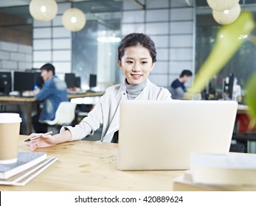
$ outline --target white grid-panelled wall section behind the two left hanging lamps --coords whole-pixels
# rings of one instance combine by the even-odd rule
[[[70,7],[70,3],[58,4],[58,14],[52,21],[33,21],[33,67],[52,63],[60,78],[72,71],[72,32],[61,21]]]

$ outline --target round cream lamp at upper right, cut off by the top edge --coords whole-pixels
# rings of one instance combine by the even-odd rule
[[[207,0],[209,7],[219,12],[229,10],[234,7],[235,4],[238,4],[238,2],[239,0]]]

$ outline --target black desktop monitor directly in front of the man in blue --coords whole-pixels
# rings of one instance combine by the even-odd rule
[[[25,90],[34,90],[35,73],[25,71],[14,71],[13,90],[19,91],[20,95]]]

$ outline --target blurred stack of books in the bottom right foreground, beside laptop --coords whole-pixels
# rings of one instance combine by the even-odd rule
[[[256,154],[193,153],[175,191],[256,191]]]

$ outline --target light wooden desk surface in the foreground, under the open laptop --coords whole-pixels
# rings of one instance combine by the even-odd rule
[[[21,136],[19,150],[26,136]],[[0,185],[0,191],[172,191],[173,178],[184,171],[120,171],[116,143],[72,141],[38,149],[58,157],[56,163],[25,186]]]

